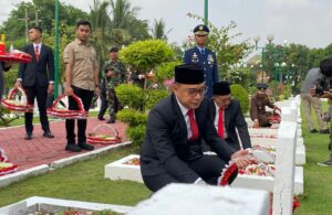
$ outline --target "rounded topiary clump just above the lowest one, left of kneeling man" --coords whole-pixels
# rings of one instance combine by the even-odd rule
[[[125,123],[128,123],[129,127],[146,125],[147,122],[147,114],[129,108],[120,110],[116,114],[116,118]]]

